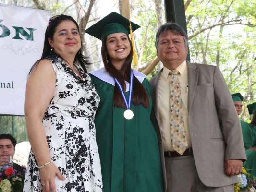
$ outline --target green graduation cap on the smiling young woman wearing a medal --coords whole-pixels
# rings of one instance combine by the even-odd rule
[[[132,30],[140,28],[139,25],[131,22]],[[103,19],[99,20],[96,24],[90,26],[85,30],[85,33],[90,34],[100,40],[113,33],[130,34],[130,21],[117,12],[111,12]]]

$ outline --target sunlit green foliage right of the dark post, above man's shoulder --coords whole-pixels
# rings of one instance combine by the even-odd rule
[[[247,104],[256,98],[255,10],[256,2],[242,0],[193,0],[186,10],[191,61],[218,63],[231,93]]]

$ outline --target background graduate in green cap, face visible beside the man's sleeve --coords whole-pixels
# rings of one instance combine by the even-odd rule
[[[243,110],[244,97],[240,93],[235,93],[231,96],[237,111],[237,115],[240,115]],[[250,108],[250,105],[248,106]],[[251,110],[249,110],[249,113],[250,112]],[[251,177],[253,177],[256,176],[256,134],[253,132],[252,127],[247,122],[243,120],[240,120],[240,122],[243,133],[244,148],[247,157],[247,160],[244,162],[243,166],[247,169],[247,172],[251,174]]]

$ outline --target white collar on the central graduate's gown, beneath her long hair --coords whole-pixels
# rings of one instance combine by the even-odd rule
[[[134,73],[134,76],[139,80],[140,83],[143,82],[143,80],[146,78],[146,75],[143,74],[142,72],[138,72],[134,69],[132,69],[133,73]],[[92,72],[90,72],[92,75],[98,77],[99,79],[101,79],[102,81],[105,81],[109,84],[112,84],[113,86],[115,86],[115,80],[114,78],[106,71],[106,69],[103,67],[103,68],[100,68],[98,70],[94,70]],[[129,82],[126,82],[125,81],[125,84],[126,84],[126,91],[129,91]]]

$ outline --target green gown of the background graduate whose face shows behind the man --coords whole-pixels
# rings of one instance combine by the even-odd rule
[[[256,177],[256,151],[249,149],[249,147],[256,147],[256,132],[253,128],[246,122],[240,120],[243,139],[244,139],[244,148],[247,160],[244,162],[244,167],[252,176]]]

